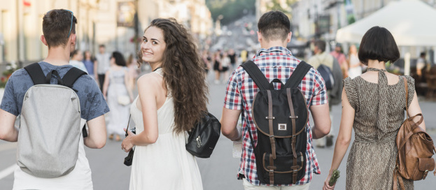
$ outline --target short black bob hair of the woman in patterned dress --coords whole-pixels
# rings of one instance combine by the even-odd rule
[[[388,29],[372,27],[363,35],[358,57],[365,65],[368,65],[369,59],[393,63],[400,58],[400,51]]]

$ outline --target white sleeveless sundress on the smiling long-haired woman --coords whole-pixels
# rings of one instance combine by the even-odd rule
[[[155,73],[162,75],[160,69]],[[130,108],[136,134],[143,131],[142,112],[136,108],[135,98]],[[195,157],[185,149],[185,134],[176,135],[174,103],[167,97],[157,110],[159,137],[153,144],[136,146],[132,162],[129,189],[203,189],[202,177]]]

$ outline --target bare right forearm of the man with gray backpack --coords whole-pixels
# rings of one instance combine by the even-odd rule
[[[101,149],[106,145],[106,122],[104,115],[87,121],[89,128],[87,138],[83,138],[85,145],[90,148]]]

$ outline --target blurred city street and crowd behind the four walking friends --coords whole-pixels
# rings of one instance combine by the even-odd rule
[[[256,32],[263,13],[281,10],[288,15],[292,39],[287,47],[302,60],[314,54],[313,44],[318,39],[327,42],[326,52],[342,47],[340,52],[349,57],[349,47],[358,47],[370,27],[386,27],[398,43],[401,56],[387,69],[415,78],[427,131],[436,139],[436,117],[431,117],[436,108],[436,0],[0,0],[0,102],[10,74],[47,55],[47,47],[40,41],[42,18],[54,8],[73,12],[78,20],[76,49],[92,55],[97,54],[99,45],[126,58],[135,54],[144,29],[157,17],[174,17],[190,29],[210,70],[217,57],[223,59],[223,52],[234,50],[237,62],[227,63],[227,73],[207,75],[208,108],[217,118],[223,108],[226,76],[260,49]],[[143,64],[135,78],[148,72]],[[337,133],[340,105],[335,105],[332,113]],[[122,165],[127,154],[120,150],[120,143],[108,140],[103,149],[86,149],[94,189],[127,189],[130,168]],[[15,152],[16,142],[0,140],[1,190],[12,189]],[[321,189],[332,153],[333,147],[316,148],[322,173],[314,176],[310,189]],[[222,136],[210,159],[197,159],[204,189],[243,189],[236,179],[239,161],[232,156],[232,142]],[[343,161],[337,189],[345,188],[345,167]],[[435,189],[433,177],[416,182],[416,189]]]

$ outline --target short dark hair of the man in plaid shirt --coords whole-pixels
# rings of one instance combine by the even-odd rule
[[[285,41],[290,32],[290,21],[280,11],[269,11],[260,17],[258,29],[266,41]]]

